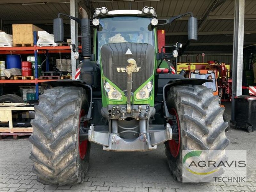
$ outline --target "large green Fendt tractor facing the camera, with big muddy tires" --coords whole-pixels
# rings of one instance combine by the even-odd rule
[[[202,85],[211,80],[188,79],[183,71],[173,74],[166,59],[178,56],[180,43],[172,46],[172,52],[164,53],[163,46],[158,53],[156,28],[183,15],[191,14],[188,39],[197,39],[192,13],[157,20],[151,7],[141,11],[97,8],[91,46],[90,20],[84,9],[80,12],[82,19],[66,15],[81,25],[83,62],[76,80],[49,82],[53,88],[39,96],[31,121],[30,159],[37,180],[59,186],[83,182],[91,142],[106,151],[148,151],[164,143],[178,181],[184,179],[183,149],[218,149],[223,153],[217,160],[224,159],[228,123],[212,89]],[[60,15],[54,20],[56,43],[63,41]]]

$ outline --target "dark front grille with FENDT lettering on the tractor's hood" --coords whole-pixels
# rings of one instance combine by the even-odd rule
[[[125,55],[128,48],[132,55]],[[130,58],[136,60],[137,68],[140,68],[138,72],[132,73],[132,91],[135,91],[153,74],[154,47],[144,43],[113,43],[101,48],[103,74],[121,90],[126,90],[127,72],[124,69]]]

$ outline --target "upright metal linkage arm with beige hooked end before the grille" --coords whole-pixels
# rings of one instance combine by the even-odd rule
[[[131,113],[132,72],[136,72],[137,63],[134,59],[128,59],[127,62],[127,113]]]

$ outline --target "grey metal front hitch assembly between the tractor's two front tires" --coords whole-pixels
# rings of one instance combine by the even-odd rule
[[[109,119],[111,131],[108,131],[108,127],[106,131],[102,126],[91,125],[88,139],[102,145],[103,150],[147,151],[156,149],[157,144],[172,139],[170,124],[166,124],[165,127],[148,124],[148,119],[155,114],[155,108],[149,105],[133,105],[131,113],[127,113],[125,105],[108,106],[102,108],[101,113]],[[130,121],[124,120],[127,118]],[[127,134],[132,134],[134,137],[129,137]]]

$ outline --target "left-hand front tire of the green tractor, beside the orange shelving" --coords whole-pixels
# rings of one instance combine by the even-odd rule
[[[83,182],[88,170],[90,142],[79,142],[80,117],[87,109],[81,87],[55,87],[39,96],[30,159],[37,180],[46,185],[74,185]]]

